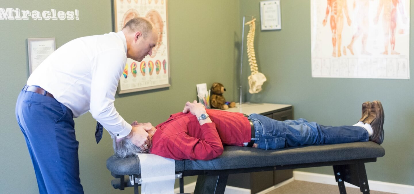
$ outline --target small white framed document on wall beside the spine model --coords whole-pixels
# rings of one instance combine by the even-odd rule
[[[280,0],[260,1],[260,23],[262,30],[282,29]]]

